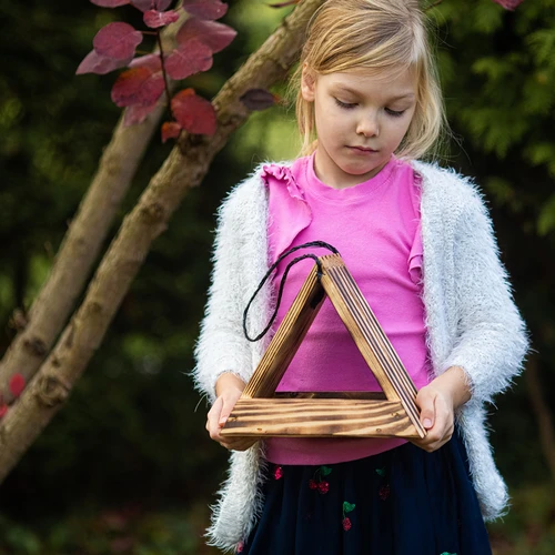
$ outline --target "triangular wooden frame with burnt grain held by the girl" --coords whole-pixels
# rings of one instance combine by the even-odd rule
[[[424,437],[416,387],[343,260],[339,254],[317,260],[221,435]],[[275,393],[326,296],[383,393]]]

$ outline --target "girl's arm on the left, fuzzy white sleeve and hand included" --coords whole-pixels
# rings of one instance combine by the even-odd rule
[[[243,334],[243,311],[252,282],[258,272],[265,271],[266,263],[266,221],[260,192],[255,181],[245,182],[220,210],[212,283],[193,371],[196,389],[212,403],[206,421],[210,436],[238,451],[249,448],[256,440],[223,438],[220,432],[253,370],[253,350]],[[263,294],[260,296],[264,303]]]

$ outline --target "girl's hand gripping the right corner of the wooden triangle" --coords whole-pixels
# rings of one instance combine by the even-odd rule
[[[432,453],[447,443],[455,430],[455,410],[471,398],[463,369],[452,366],[416,395],[420,420],[427,435],[412,443]]]

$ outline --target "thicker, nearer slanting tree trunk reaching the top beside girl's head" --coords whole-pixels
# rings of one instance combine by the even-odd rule
[[[310,17],[323,0],[304,0],[252,54],[214,99],[213,137],[183,135],[124,219],[85,299],[54,350],[0,424],[0,481],[61,408],[73,384],[100,346],[152,242],[168,226],[186,191],[201,183],[213,157],[249,117],[240,101],[250,89],[268,89],[296,59]]]

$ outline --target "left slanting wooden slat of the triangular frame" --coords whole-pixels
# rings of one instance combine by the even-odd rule
[[[243,398],[273,395],[324,299],[325,292],[316,278],[314,265],[246,384]]]

